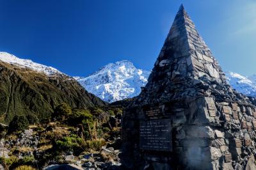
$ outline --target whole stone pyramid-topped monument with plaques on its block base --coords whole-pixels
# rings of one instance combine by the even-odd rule
[[[230,87],[183,6],[123,119],[127,169],[256,169],[256,107]]]

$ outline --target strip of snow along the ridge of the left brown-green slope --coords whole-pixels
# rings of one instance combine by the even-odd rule
[[[54,75],[56,73],[61,73],[59,70],[51,66],[41,65],[31,61],[30,59],[20,59],[16,56],[13,56],[12,54],[9,54],[8,52],[0,52],[0,60],[6,63],[10,63],[12,65],[30,68],[31,70],[35,70],[36,72],[42,72],[46,75]]]

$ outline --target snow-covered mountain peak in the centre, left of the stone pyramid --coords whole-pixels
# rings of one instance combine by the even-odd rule
[[[84,88],[106,102],[139,95],[150,72],[136,68],[130,61],[109,63],[88,77],[74,77]]]

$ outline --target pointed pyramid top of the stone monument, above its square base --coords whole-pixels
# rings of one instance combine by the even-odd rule
[[[228,84],[225,73],[181,4],[148,84],[136,102],[159,103],[209,95],[236,100],[233,93],[236,91]]]

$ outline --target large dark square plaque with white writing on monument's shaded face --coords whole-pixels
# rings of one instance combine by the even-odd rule
[[[140,122],[141,150],[172,151],[171,120]]]

